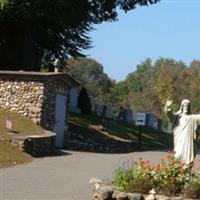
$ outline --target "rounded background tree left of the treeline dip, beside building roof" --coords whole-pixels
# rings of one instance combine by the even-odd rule
[[[115,82],[103,71],[103,66],[90,58],[70,58],[66,63],[68,73],[85,87],[92,104],[113,104],[112,90]]]

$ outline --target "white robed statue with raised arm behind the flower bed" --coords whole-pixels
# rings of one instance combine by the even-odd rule
[[[190,101],[184,99],[180,110],[172,112],[172,100],[167,100],[165,112],[174,125],[174,152],[185,164],[194,162],[196,156],[195,139],[200,125],[200,114],[190,114]]]

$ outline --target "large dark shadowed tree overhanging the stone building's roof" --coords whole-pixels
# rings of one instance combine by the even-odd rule
[[[40,70],[42,63],[91,47],[94,24],[159,0],[1,0],[0,69]]]

